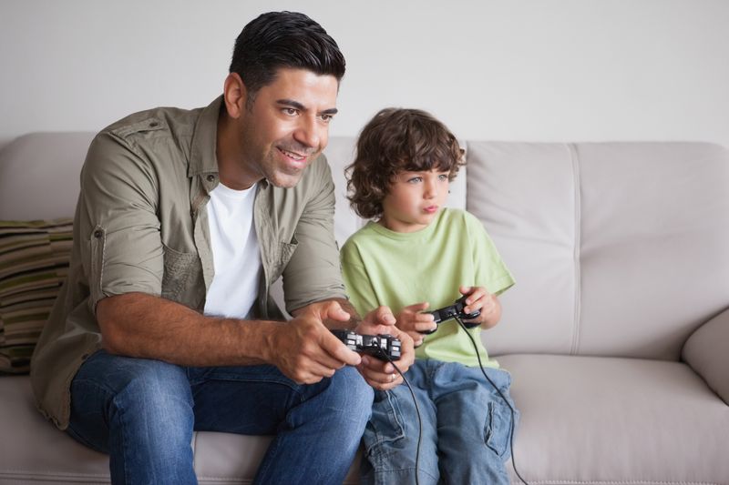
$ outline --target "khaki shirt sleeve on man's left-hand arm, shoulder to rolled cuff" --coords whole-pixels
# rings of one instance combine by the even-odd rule
[[[102,132],[81,173],[77,220],[81,260],[92,312],[101,298],[133,291],[161,292],[158,174],[133,144]]]

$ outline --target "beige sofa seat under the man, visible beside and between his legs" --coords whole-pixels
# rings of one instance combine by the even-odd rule
[[[108,456],[77,443],[43,419],[27,376],[0,378],[0,402],[0,483],[110,483]],[[271,440],[196,432],[192,448],[200,484],[252,483]],[[359,460],[357,455],[344,483],[358,483]]]

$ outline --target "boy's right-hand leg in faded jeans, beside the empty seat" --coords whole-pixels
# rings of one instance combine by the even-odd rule
[[[507,372],[485,369],[508,395]],[[511,409],[479,368],[443,363],[434,375],[440,471],[447,483],[508,485]],[[516,419],[516,416],[515,416]]]

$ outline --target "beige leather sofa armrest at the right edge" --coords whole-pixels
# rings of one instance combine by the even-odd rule
[[[696,328],[682,357],[729,404],[729,309]]]

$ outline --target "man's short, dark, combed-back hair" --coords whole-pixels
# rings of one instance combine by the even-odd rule
[[[318,75],[344,76],[344,55],[323,27],[296,12],[269,12],[243,27],[235,40],[231,73],[241,76],[251,106],[258,90],[271,84],[281,67]]]

